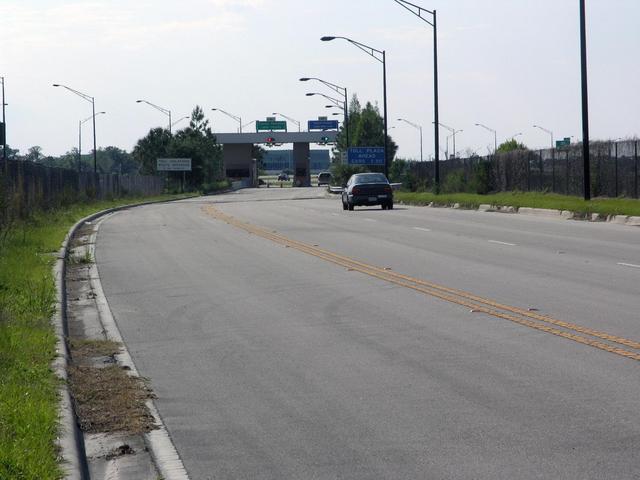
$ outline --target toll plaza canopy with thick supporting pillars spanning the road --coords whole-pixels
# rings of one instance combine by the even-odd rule
[[[257,186],[258,175],[252,147],[256,144],[293,144],[294,185],[311,185],[309,152],[312,143],[334,143],[337,131],[315,132],[252,132],[216,133],[218,144],[222,145],[222,159],[226,176],[249,179]]]

